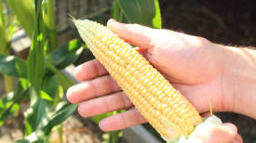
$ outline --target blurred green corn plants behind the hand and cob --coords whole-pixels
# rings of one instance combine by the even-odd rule
[[[20,110],[20,103],[26,99],[30,100],[30,107],[24,112],[24,138],[16,142],[48,142],[54,127],[58,128],[61,137],[60,124],[77,108],[63,99],[63,93],[75,81],[62,70],[73,64],[83,50],[88,51],[87,46],[79,39],[58,45],[54,0],[1,0],[0,4],[0,40],[3,41],[0,45],[0,73],[5,75],[6,82],[6,94],[0,99],[0,125]],[[7,10],[11,12],[10,17]],[[157,0],[146,0],[146,3],[145,0],[115,0],[111,13],[115,20],[161,28]],[[26,60],[10,53],[12,34],[20,28],[32,40]],[[13,86],[14,78],[18,83]],[[91,120],[99,123],[102,118],[116,112],[95,116]],[[110,137],[105,137],[104,142],[117,142],[120,133],[107,133]]]

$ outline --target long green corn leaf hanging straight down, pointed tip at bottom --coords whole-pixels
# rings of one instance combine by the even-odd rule
[[[36,90],[43,84],[45,71],[44,48],[47,45],[44,36],[44,21],[42,18],[42,0],[35,0],[36,20],[34,24],[33,41],[28,57],[28,78]]]

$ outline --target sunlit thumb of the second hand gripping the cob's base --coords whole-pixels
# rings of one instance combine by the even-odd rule
[[[229,143],[237,136],[236,126],[232,123],[205,123],[195,128],[187,143]]]

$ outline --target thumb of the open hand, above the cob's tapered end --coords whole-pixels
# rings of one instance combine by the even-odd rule
[[[141,26],[139,24],[124,24],[119,23],[116,20],[108,20],[108,28],[118,34],[118,36],[124,39],[131,45],[136,45],[142,48],[151,48],[153,40],[156,38],[158,32],[156,29]]]

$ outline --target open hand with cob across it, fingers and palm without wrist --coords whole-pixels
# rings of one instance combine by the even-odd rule
[[[220,45],[214,45],[201,37],[150,29],[136,24],[121,24],[114,20],[108,22],[108,27],[129,44],[141,47],[141,54],[200,113],[209,111],[209,101],[214,111],[233,111],[236,97],[224,95],[228,90],[223,89],[227,84],[223,78],[225,68],[222,64],[226,48],[220,48]],[[71,87],[67,97],[73,103],[80,103],[78,111],[82,116],[129,109],[103,119],[100,123],[102,130],[123,129],[146,122],[98,60],[78,66],[74,76],[83,83]]]

